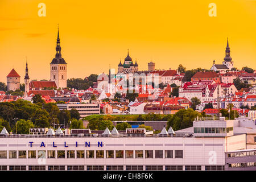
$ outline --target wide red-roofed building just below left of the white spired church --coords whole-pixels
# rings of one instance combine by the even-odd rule
[[[216,83],[221,82],[220,75],[216,72],[196,72],[194,76],[192,76],[191,81],[215,81]]]

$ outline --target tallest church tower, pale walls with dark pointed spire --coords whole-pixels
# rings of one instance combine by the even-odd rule
[[[57,35],[57,46],[56,46],[56,55],[50,63],[51,66],[51,81],[55,81],[57,88],[66,88],[67,87],[67,63],[61,57],[61,47],[60,47],[60,36],[59,36],[59,27]]]

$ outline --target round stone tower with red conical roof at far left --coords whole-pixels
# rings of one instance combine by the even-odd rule
[[[6,76],[7,78],[7,91],[20,89],[20,76],[12,69],[11,72]]]

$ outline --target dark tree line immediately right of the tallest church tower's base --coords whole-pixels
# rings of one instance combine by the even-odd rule
[[[96,82],[98,75],[91,74],[89,77],[82,78],[70,78],[67,80],[67,87],[74,88],[77,90],[86,90],[93,86],[93,82]]]

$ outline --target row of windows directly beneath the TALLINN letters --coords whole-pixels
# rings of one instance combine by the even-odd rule
[[[182,150],[126,150],[125,155],[123,150],[115,150],[115,158],[183,158],[183,151]],[[28,153],[28,157],[27,157]],[[46,156],[47,154],[47,156]],[[155,154],[155,155],[154,155]],[[94,156],[96,158],[104,158],[104,150],[39,150],[38,151],[38,157],[37,158],[48,158],[48,159],[56,159],[56,157],[59,158],[68,158],[68,159],[82,159],[82,158],[88,158],[88,159],[94,159]],[[36,159],[36,151],[35,150],[22,150],[22,151],[9,151],[9,159]],[[105,158],[114,158],[114,150],[106,150],[105,151]],[[7,151],[0,151],[0,159],[7,159]]]

